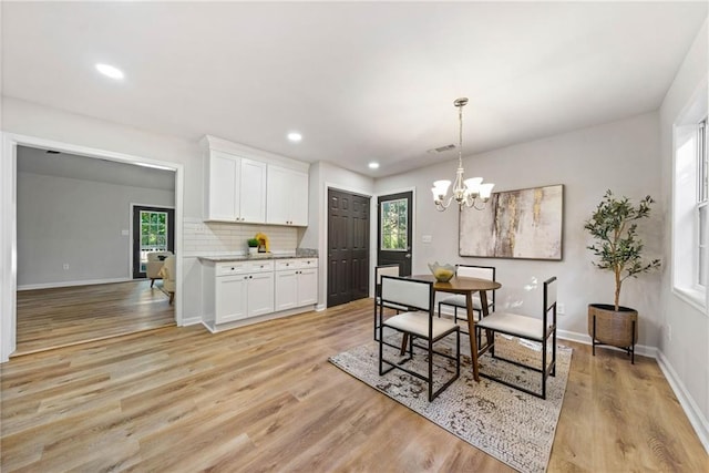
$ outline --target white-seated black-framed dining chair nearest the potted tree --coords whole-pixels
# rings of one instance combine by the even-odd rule
[[[490,313],[487,317],[483,317],[476,323],[475,329],[481,332],[482,330],[486,331],[486,343],[485,346],[480,347],[477,351],[479,360],[484,352],[490,350],[492,358],[536,371],[542,376],[542,389],[541,392],[536,392],[482,371],[480,373],[481,377],[492,379],[511,388],[536,395],[537,398],[546,399],[546,380],[549,376],[556,374],[556,276],[544,281],[542,318],[495,311]],[[541,367],[525,364],[516,360],[501,357],[500,353],[495,352],[496,333],[503,333],[541,343]],[[552,359],[547,362],[549,343],[552,349]]]

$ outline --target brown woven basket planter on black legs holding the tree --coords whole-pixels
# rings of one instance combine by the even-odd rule
[[[635,343],[638,341],[638,311],[629,307],[609,304],[588,305],[588,335],[593,339],[594,356],[597,345],[626,350],[635,362]]]

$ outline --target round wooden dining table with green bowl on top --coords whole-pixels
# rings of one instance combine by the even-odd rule
[[[453,277],[448,282],[439,282],[433,275],[414,275],[411,279],[433,282],[436,292],[452,292],[465,296],[465,307],[467,312],[467,333],[470,338],[470,353],[473,361],[473,379],[480,381],[477,371],[477,338],[475,337],[475,318],[473,316],[473,294],[480,292],[480,305],[482,307],[481,317],[487,316],[487,291],[502,287],[497,281],[479,278]]]

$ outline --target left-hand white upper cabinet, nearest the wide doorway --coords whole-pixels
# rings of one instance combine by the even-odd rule
[[[266,163],[209,151],[205,176],[205,220],[266,222]]]

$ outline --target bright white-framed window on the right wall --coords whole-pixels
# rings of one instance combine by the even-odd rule
[[[700,310],[709,282],[709,162],[707,109],[675,125],[672,288]]]

